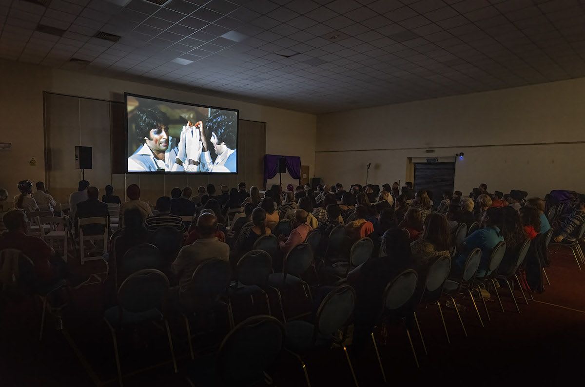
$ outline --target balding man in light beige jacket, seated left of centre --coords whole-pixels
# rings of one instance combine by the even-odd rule
[[[177,259],[171,265],[171,269],[179,279],[181,291],[188,289],[191,277],[201,262],[209,258],[221,258],[229,260],[229,246],[220,242],[215,233],[218,220],[211,213],[204,213],[197,219],[197,231],[201,236],[192,244],[184,246],[179,251]]]

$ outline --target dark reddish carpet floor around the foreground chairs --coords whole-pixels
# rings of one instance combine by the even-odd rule
[[[80,272],[100,272],[99,262],[77,267]],[[413,340],[421,368],[417,369],[404,330],[392,327],[378,337],[388,385],[580,385],[585,380],[585,271],[579,271],[572,255],[555,253],[547,269],[551,284],[529,299],[517,298],[515,312],[509,292],[501,289],[505,313],[497,302],[488,302],[491,322],[482,328],[472,309],[462,314],[468,337],[464,337],[455,311],[443,308],[451,344],[436,306],[419,310],[419,322],[428,355],[420,337]],[[519,296],[519,293],[518,295]],[[0,309],[0,386],[92,386],[116,385],[116,363],[112,337],[102,320],[102,286],[86,285],[75,291],[63,310],[64,330],[56,330],[49,316],[43,341],[39,342],[40,304],[23,299]],[[442,299],[442,301],[445,301]],[[444,304],[444,302],[443,302]],[[466,302],[464,302],[466,304]],[[252,308],[263,310],[259,300],[236,305],[242,320]],[[466,304],[467,305],[467,304]],[[273,310],[276,310],[273,307]],[[482,313],[485,316],[485,313]],[[222,316],[213,331],[205,330],[194,340],[199,356],[212,353],[225,334]],[[119,335],[122,373],[126,386],[188,386],[186,375],[197,360],[189,355],[181,320],[171,321],[178,374],[173,373],[166,333],[157,327]],[[380,367],[373,345],[359,355],[349,348],[360,386],[382,386]],[[148,368],[145,371],[141,369]],[[319,351],[307,359],[313,386],[352,386],[353,379],[342,350]],[[140,372],[139,372],[140,371]],[[277,386],[305,385],[302,369],[285,353],[269,370]],[[579,382],[580,381],[580,382]]]

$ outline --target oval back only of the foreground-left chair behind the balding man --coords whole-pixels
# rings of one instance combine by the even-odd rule
[[[122,282],[118,289],[118,302],[122,310],[132,313],[160,310],[168,291],[168,278],[156,269],[143,269]]]

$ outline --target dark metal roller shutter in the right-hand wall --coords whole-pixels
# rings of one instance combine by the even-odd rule
[[[453,192],[455,185],[455,163],[414,163],[414,189],[431,191],[436,205],[443,192]]]

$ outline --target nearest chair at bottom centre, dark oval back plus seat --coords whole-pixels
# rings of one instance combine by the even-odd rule
[[[271,316],[254,316],[239,323],[223,339],[217,354],[192,362],[193,386],[253,386],[269,376],[267,369],[280,354],[284,327]]]

